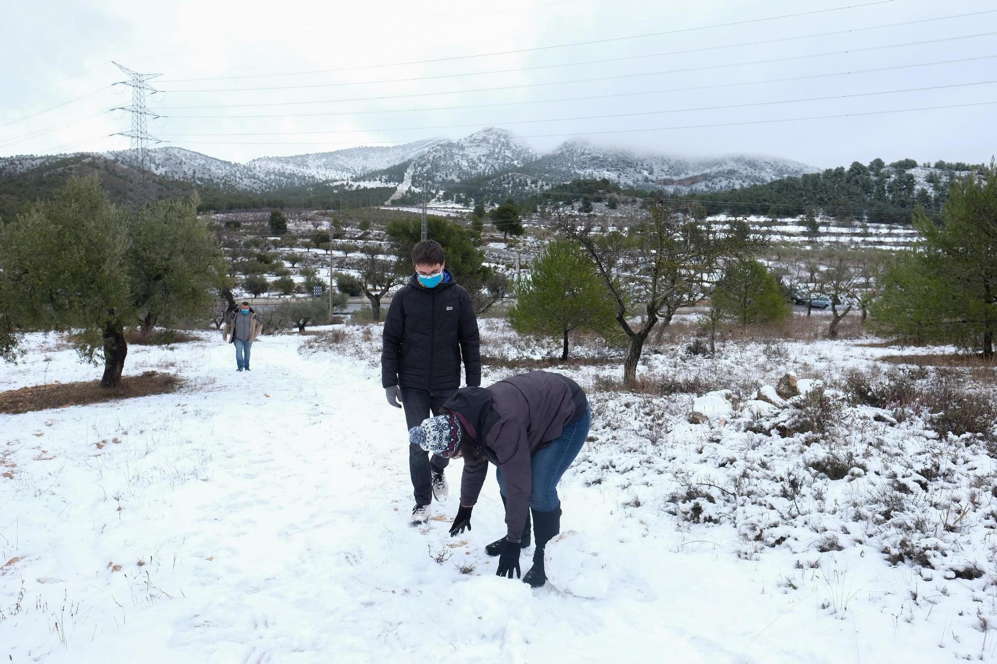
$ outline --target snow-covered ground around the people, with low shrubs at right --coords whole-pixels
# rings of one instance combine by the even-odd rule
[[[845,515],[854,507],[845,501],[861,506],[875,488],[869,483],[884,482],[878,470],[902,469],[926,450],[938,451],[943,478],[955,472],[947,489],[938,486],[953,499],[971,478],[992,478],[993,461],[969,442],[932,439],[916,422],[896,427],[868,410],[849,424],[848,446],[882,450],[883,458],[858,464],[864,478],[810,479],[801,497],[787,498],[780,478],[805,468],[826,443],[807,451],[801,440],[751,433],[733,417],[690,425],[694,394],[598,389],[617,376],[616,364],[565,370],[591,395],[594,419],[560,489],[562,529],[579,534],[553,547],[551,565],[561,582],[603,598],[549,584],[531,590],[497,578],[496,560],[483,551],[504,531],[493,481],[474,529],[449,536],[459,461],[448,471],[452,498],[434,503],[428,525],[409,524],[405,422],[381,389],[380,330],[336,329],[345,339],[325,345],[263,337],[251,373],[234,371],[232,348],[216,333],[133,347],[126,374],[175,372],[186,381],[182,391],[0,415],[0,660],[796,664],[995,656],[993,576],[891,566],[881,537]],[[517,340],[501,321],[483,321],[483,330],[488,355],[540,354],[542,344]],[[0,366],[0,391],[99,375],[57,337],[32,335],[27,348],[25,363]],[[831,381],[845,366],[866,368],[893,352],[848,341],[747,344],[706,360],[666,347],[648,352],[641,371],[699,380],[704,390],[737,389],[788,369]],[[485,384],[509,373],[488,368]],[[673,496],[690,483],[696,495]],[[773,493],[753,495],[759,488]],[[936,563],[944,551],[988,569],[985,512],[974,509],[970,527],[939,535]],[[747,536],[752,528],[757,540]],[[600,562],[581,555],[586,550]],[[571,579],[574,568],[584,574]]]

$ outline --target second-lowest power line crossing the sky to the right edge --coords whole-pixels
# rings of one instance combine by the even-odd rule
[[[578,120],[606,120],[608,118],[636,118],[640,116],[658,116],[669,113],[691,113],[698,111],[723,111],[728,109],[745,109],[759,106],[775,106],[779,104],[801,104],[805,102],[827,102],[837,99],[853,99],[858,97],[876,97],[879,95],[897,95],[901,93],[925,92],[928,90],[947,90],[951,88],[966,88],[969,86],[993,85],[995,81],[976,81],[973,83],[953,83],[944,86],[926,86],[922,88],[906,88],[903,90],[883,90],[879,92],[854,93],[851,95],[829,95],[826,97],[808,97],[802,99],[777,100],[771,102],[749,102],[745,104],[728,104],[724,106],[701,106],[685,109],[668,109],[664,111],[641,111],[635,113],[611,113],[599,116],[575,116],[572,118],[544,118],[540,120],[512,120],[504,122],[479,122],[464,125],[437,125],[430,127],[392,127],[378,129],[358,129],[358,130],[328,130],[319,132],[217,132],[209,134],[161,134],[160,136],[171,137],[202,137],[202,136],[296,136],[296,135],[320,135],[320,134],[363,134],[366,132],[423,132],[442,129],[464,129],[468,127],[481,126],[504,126],[504,125],[534,125],[537,123],[557,123],[573,122]]]

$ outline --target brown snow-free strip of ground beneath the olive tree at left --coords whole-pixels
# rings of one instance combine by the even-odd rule
[[[125,376],[121,385],[105,390],[100,381],[53,383],[0,392],[0,413],[18,414],[49,408],[85,406],[119,399],[148,397],[176,392],[183,382],[173,374],[147,371],[140,376]]]

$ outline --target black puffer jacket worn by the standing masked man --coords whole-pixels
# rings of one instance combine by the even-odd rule
[[[391,299],[381,346],[381,384],[420,390],[461,387],[461,358],[467,385],[482,384],[482,356],[475,308],[462,286],[449,280],[436,288],[415,274]]]

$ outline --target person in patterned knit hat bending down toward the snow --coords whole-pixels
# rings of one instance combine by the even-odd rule
[[[463,388],[442,413],[409,432],[421,449],[447,458],[464,458],[461,506],[450,534],[471,528],[471,512],[495,464],[505,505],[505,536],[486,547],[498,555],[499,576],[519,576],[519,552],[529,546],[533,514],[533,566],[522,580],[533,587],[546,582],[543,550],[560,532],[557,483],[588,437],[592,412],[588,398],[567,376],[532,371],[488,388]]]

